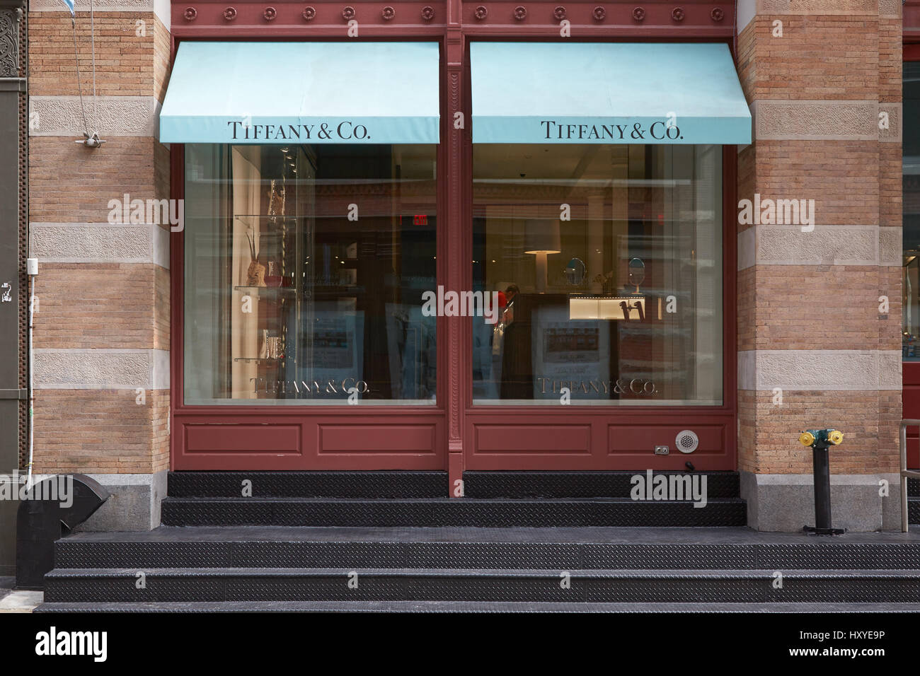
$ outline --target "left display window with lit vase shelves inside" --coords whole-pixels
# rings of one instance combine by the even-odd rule
[[[433,405],[435,157],[186,145],[185,403]]]

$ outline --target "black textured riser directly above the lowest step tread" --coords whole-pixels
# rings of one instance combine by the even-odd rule
[[[920,602],[920,579],[577,579],[562,589],[558,576],[528,578],[147,577],[55,579],[45,602],[226,601],[543,601],[543,602]]]

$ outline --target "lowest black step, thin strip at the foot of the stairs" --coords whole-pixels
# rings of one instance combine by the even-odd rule
[[[35,613],[920,613],[920,603],[76,602],[42,603]]]

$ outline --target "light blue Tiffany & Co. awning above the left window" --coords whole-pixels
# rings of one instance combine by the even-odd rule
[[[436,42],[182,42],[163,143],[438,143]]]

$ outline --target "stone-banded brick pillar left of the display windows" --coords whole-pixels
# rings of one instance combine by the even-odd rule
[[[168,225],[112,224],[109,201],[169,197],[169,153],[154,129],[171,39],[152,4],[96,13],[98,132],[107,143],[89,149],[74,143],[83,117],[61,9],[29,13],[29,223],[40,260],[34,467],[153,474],[168,468]],[[77,11],[92,126],[89,25]]]

